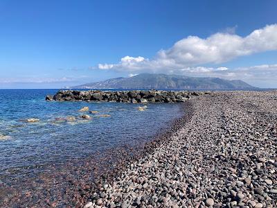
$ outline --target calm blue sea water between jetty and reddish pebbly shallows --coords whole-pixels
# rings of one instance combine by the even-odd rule
[[[48,164],[64,164],[96,151],[148,141],[181,115],[170,103],[141,104],[48,102],[55,89],[0,90],[0,184],[7,177],[44,171]],[[81,107],[98,113],[79,112]],[[82,114],[92,119],[81,119]],[[101,117],[109,114],[109,117]],[[63,121],[75,116],[76,121]],[[37,123],[24,119],[37,118]]]

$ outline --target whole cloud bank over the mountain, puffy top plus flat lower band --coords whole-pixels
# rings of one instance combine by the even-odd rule
[[[178,73],[190,76],[217,76],[243,80],[276,80],[277,64],[251,67],[204,67],[222,64],[254,53],[277,50],[277,24],[267,25],[246,37],[233,32],[215,33],[206,39],[188,36],[170,49],[160,50],[154,58],[125,56],[116,64],[98,64],[98,69],[129,73]],[[253,83],[253,82],[251,82]]]

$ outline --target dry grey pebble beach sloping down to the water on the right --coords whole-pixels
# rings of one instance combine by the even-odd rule
[[[215,92],[84,207],[276,207],[277,92]]]

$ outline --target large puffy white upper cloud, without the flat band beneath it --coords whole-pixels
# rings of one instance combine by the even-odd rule
[[[223,32],[206,39],[188,36],[170,49],[162,49],[152,59],[127,55],[116,64],[98,64],[98,69],[168,73],[201,64],[221,64],[240,56],[276,49],[277,24],[272,24],[255,30],[246,37]]]

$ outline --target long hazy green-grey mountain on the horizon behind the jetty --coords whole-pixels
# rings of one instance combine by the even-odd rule
[[[157,73],[141,73],[129,78],[87,83],[74,89],[254,89],[242,80],[224,80],[210,77],[188,77]]]

